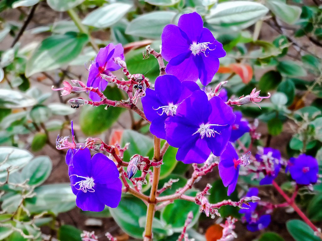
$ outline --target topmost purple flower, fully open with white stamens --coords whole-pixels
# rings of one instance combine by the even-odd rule
[[[211,31],[203,27],[198,13],[181,15],[178,26],[168,24],[163,29],[162,56],[169,63],[166,73],[180,81],[200,79],[208,85],[218,71],[219,59],[226,55],[223,45]]]

